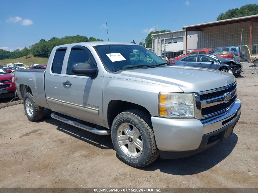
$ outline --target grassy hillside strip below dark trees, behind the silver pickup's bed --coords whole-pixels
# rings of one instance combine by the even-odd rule
[[[26,56],[20,57],[20,58],[15,58],[15,59],[4,59],[4,60],[0,60],[0,65],[5,65],[8,63],[16,63],[16,62],[20,62],[20,63],[24,63],[27,66],[31,65],[31,60],[32,60],[32,64],[46,64],[48,61],[48,58],[37,58],[37,57],[30,57],[28,56],[28,58],[26,58]]]

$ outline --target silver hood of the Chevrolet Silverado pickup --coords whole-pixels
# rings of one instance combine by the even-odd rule
[[[124,70],[120,75],[140,78],[145,82],[171,84],[184,92],[200,92],[234,83],[235,77],[218,70],[186,66],[168,66],[145,69]],[[128,78],[129,79],[129,78]]]

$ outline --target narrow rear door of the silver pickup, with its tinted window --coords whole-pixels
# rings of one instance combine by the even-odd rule
[[[57,48],[50,69],[45,73],[45,95],[51,110],[64,113],[62,105],[62,67],[67,47]],[[51,57],[50,57],[51,58]]]

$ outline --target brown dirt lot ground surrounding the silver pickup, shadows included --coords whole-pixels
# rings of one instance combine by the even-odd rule
[[[237,78],[242,115],[231,137],[183,159],[135,169],[110,136],[49,117],[28,121],[23,105],[0,109],[0,187],[258,187],[258,75]]]

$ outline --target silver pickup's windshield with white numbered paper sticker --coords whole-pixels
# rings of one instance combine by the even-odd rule
[[[122,68],[133,69],[132,66],[164,64],[164,60],[141,45],[98,45],[95,48],[109,72]]]

